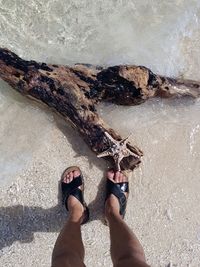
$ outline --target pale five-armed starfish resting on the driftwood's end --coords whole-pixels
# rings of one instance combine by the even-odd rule
[[[120,141],[115,140],[108,132],[105,132],[105,135],[108,139],[110,147],[107,150],[100,153],[99,155],[97,155],[98,158],[108,157],[108,156],[113,157],[118,171],[121,170],[120,162],[122,161],[123,158],[126,158],[130,155],[136,158],[140,158],[140,156],[132,152],[127,147],[128,139],[130,138],[131,135]]]

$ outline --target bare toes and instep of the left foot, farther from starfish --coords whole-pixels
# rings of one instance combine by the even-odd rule
[[[74,170],[69,173],[66,172],[63,176],[63,183],[69,184],[74,179],[80,176],[80,171]],[[80,190],[83,190],[83,186],[78,187]],[[74,196],[70,195],[67,200],[67,207],[70,212],[70,216],[73,217],[73,220],[79,221],[82,220],[83,213],[84,213],[84,207],[81,204],[81,202],[75,198]]]

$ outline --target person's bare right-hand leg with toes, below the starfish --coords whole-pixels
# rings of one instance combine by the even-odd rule
[[[109,171],[107,178],[115,183],[128,181],[121,172]],[[105,216],[110,228],[113,265],[115,267],[148,267],[144,250],[119,214],[119,202],[113,194],[106,200]]]

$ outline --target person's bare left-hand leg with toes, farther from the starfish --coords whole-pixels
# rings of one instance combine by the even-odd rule
[[[63,181],[70,183],[80,172],[70,172]],[[84,247],[81,238],[82,204],[73,196],[68,198],[69,218],[56,241],[52,267],[83,267]]]

